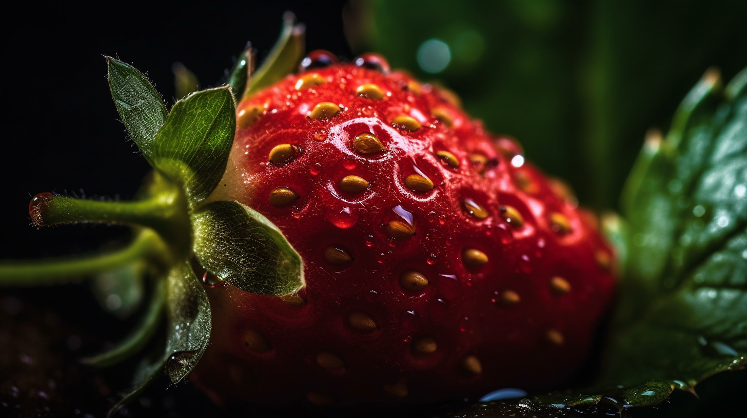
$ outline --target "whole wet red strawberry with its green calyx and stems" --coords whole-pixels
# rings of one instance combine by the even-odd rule
[[[29,211],[37,226],[134,225],[134,240],[0,266],[0,283],[149,278],[142,325],[88,359],[134,354],[166,316],[160,352],[115,409],[164,368],[219,404],[441,402],[569,378],[613,293],[594,216],[453,93],[379,55],[315,51],[283,78],[303,51],[292,16],[283,33],[256,72],[247,49],[229,86],[170,110],[108,57],[153,175],[137,202],[40,193]]]

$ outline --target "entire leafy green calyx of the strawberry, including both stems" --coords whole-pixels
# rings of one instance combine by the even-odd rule
[[[112,309],[114,314],[131,313],[143,294],[149,295],[139,325],[111,351],[85,360],[97,366],[122,361],[146,346],[159,323],[167,322],[164,345],[149,356],[155,361],[137,367],[134,389],[110,414],[164,370],[171,381],[180,381],[199,361],[211,330],[203,283],[208,275],[268,296],[296,293],[305,286],[303,261],[275,225],[239,202],[208,201],[226,172],[236,130],[236,101],[294,71],[302,55],[303,26],[286,13],[281,37],[257,72],[254,52],[247,47],[228,85],[190,93],[170,110],[145,75],[106,57],[114,105],[152,166],[152,175],[131,202],[40,193],[32,199],[29,213],[37,228],[77,222],[120,224],[131,226],[134,238],[117,252],[0,263],[0,286],[90,279],[97,296],[115,295],[123,301],[120,311]],[[193,75],[189,80],[183,75],[187,89]],[[146,282],[149,293],[143,287]]]

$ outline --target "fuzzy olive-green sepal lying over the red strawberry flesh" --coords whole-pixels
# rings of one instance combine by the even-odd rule
[[[251,293],[282,296],[304,285],[303,261],[282,232],[238,202],[211,202],[193,215],[202,266]]]

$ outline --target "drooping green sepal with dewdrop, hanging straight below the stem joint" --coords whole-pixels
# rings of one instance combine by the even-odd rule
[[[165,280],[167,287],[167,337],[164,347],[138,364],[133,388],[117,402],[108,416],[131,402],[164,371],[173,383],[192,371],[208,346],[211,329],[208,295],[186,261],[175,266]]]

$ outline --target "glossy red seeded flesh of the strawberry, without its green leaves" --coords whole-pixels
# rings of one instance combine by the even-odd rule
[[[590,217],[447,91],[373,54],[336,61],[313,52],[238,105],[211,200],[277,225],[306,287],[208,287],[211,344],[190,380],[223,404],[345,405],[567,379],[613,293]]]

